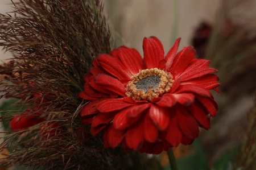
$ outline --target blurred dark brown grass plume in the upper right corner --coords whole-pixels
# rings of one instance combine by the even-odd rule
[[[205,58],[211,60],[212,67],[218,69],[220,90],[229,94],[229,99],[240,97],[241,94],[253,94],[255,90],[254,7],[255,1],[251,0],[222,1],[208,43]]]

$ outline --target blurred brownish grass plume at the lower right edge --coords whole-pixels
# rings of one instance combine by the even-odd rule
[[[242,140],[239,157],[236,161],[237,168],[242,167],[243,170],[256,169],[256,95],[247,121],[245,138]]]

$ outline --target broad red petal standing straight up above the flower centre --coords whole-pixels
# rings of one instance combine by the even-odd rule
[[[164,59],[162,43],[154,36],[143,39],[144,63],[146,68],[157,68],[160,60]]]

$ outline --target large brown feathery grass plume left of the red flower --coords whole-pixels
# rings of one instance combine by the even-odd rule
[[[7,132],[0,150],[8,149],[10,155],[1,158],[0,164],[127,168],[121,167],[126,164],[121,151],[105,150],[101,137],[90,135],[77,109],[85,103],[77,96],[92,59],[110,51],[101,1],[20,0],[13,5],[12,13],[0,15],[0,45],[13,52],[10,63],[0,68],[8,75],[1,81],[1,98],[19,98],[15,115],[38,115],[44,121]],[[9,123],[13,116],[2,111],[1,121]]]

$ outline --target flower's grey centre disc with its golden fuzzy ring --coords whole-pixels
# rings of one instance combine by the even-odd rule
[[[152,101],[153,98],[162,97],[172,87],[172,74],[158,68],[144,69],[131,76],[126,85],[126,96],[137,100]]]

